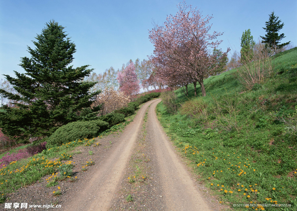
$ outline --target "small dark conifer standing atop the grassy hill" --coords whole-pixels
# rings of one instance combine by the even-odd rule
[[[263,27],[263,29],[266,31],[266,34],[264,37],[260,36],[263,39],[262,43],[266,43],[267,47],[269,46],[269,48],[272,48],[274,53],[277,51],[277,49],[282,48],[290,43],[289,41],[279,44],[280,40],[285,38],[285,34],[278,34],[279,30],[281,30],[284,26],[284,23],[281,23],[281,20],[278,19],[279,17],[275,16],[274,12],[271,12],[271,15],[269,15],[269,20],[265,22],[266,27]]]

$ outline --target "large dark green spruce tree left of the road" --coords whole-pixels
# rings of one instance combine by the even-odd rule
[[[14,71],[16,78],[4,75],[18,94],[0,89],[17,101],[15,108],[4,106],[5,112],[0,112],[0,128],[16,139],[49,136],[69,122],[95,119],[99,110],[90,108],[100,93],[89,92],[96,82],[82,81],[93,69],[87,69],[89,65],[73,68],[75,44],[64,27],[55,21],[45,25],[37,41],[32,41],[35,48],[28,46],[31,58],[21,58],[19,65],[25,73]]]

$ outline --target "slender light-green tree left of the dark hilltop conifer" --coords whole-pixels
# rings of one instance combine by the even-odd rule
[[[249,62],[252,60],[254,56],[253,48],[255,42],[253,40],[253,36],[251,35],[251,30],[245,30],[241,36],[241,62]]]

